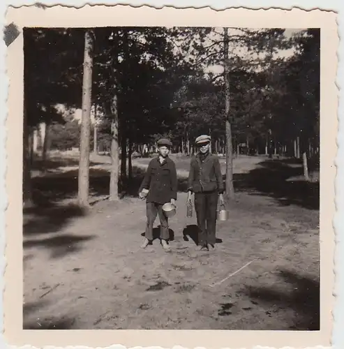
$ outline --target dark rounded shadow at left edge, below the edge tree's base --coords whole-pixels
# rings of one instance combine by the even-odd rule
[[[87,210],[77,205],[47,205],[24,209],[23,234],[37,235],[57,232],[72,218],[87,215]]]

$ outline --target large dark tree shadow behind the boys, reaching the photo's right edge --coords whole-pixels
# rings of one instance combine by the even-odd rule
[[[302,176],[302,171],[300,166],[292,167],[283,161],[262,161],[258,168],[247,174],[234,174],[234,188],[236,191],[248,191],[250,195],[267,195],[283,206],[319,209],[319,182],[290,180],[291,177]]]

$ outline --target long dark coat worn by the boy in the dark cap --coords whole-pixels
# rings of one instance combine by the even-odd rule
[[[151,160],[146,175],[142,181],[139,192],[142,189],[149,190],[147,202],[165,204],[171,199],[177,200],[177,170],[170,158],[166,158],[161,164],[159,158]]]

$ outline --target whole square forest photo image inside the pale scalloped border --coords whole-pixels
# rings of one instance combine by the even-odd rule
[[[324,29],[108,22],[20,34],[20,327],[319,332]]]

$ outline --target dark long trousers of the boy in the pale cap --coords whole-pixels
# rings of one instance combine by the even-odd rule
[[[216,208],[218,193],[195,193],[195,211],[198,225],[198,244],[216,243]]]

